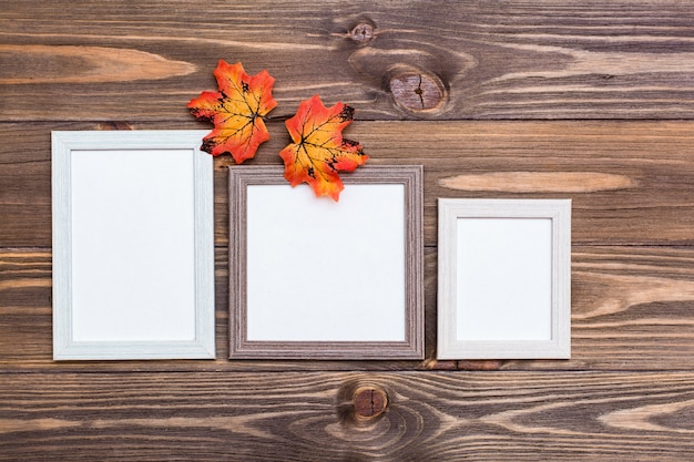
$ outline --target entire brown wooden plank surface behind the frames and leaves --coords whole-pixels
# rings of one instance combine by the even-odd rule
[[[694,460],[693,44],[676,0],[3,2],[0,460]],[[50,132],[210,127],[220,59],[277,80],[254,163],[319,93],[423,165],[423,361],[225,359],[224,158],[218,359],[52,361]],[[571,360],[436,361],[437,197],[573,199]]]

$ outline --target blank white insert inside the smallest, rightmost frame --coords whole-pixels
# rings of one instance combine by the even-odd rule
[[[457,337],[549,340],[552,220],[458,218]]]

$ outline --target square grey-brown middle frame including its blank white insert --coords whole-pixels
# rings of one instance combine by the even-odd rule
[[[421,166],[344,174],[339,202],[283,171],[229,170],[229,357],[421,359]]]

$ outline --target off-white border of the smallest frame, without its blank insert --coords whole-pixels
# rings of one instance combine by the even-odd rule
[[[569,359],[571,356],[571,201],[439,198],[437,359]],[[551,339],[457,338],[459,218],[550,218],[552,222]]]

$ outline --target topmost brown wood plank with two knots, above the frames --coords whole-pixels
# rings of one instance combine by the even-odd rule
[[[687,2],[6,2],[2,121],[185,117],[220,59],[363,119],[691,119]]]

